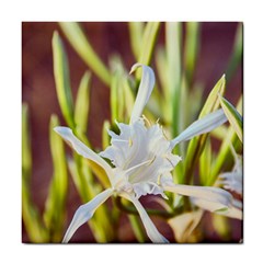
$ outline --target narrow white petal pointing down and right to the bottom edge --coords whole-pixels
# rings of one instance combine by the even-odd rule
[[[148,214],[146,213],[145,208],[139,203],[139,201],[133,195],[129,195],[126,193],[122,193],[122,196],[130,201],[132,203],[134,203],[135,207],[137,208],[140,215],[141,221],[146,228],[146,232],[150,238],[150,240],[153,243],[169,243],[169,241],[157,230],[156,226],[151,221],[150,217],[148,216]]]

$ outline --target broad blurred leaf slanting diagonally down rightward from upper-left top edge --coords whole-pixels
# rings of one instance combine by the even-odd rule
[[[69,43],[75,50],[83,59],[83,61],[90,67],[91,70],[107,85],[111,84],[111,75],[104,62],[94,52],[91,46],[88,36],[84,35],[81,26],[75,22],[60,22],[62,32],[67,36]]]

